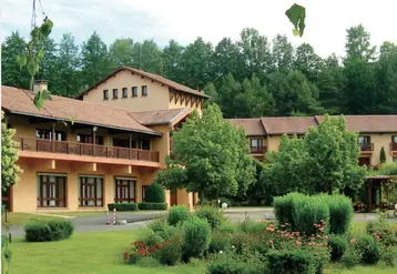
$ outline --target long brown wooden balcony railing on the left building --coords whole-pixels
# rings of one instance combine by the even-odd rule
[[[106,146],[90,143],[75,143],[65,141],[52,141],[35,138],[14,136],[21,151],[52,152],[70,155],[100,156],[113,159],[129,159],[150,162],[160,162],[157,151]]]

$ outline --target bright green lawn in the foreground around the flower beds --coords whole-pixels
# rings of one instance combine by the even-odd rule
[[[365,223],[355,223],[353,233],[365,230]],[[27,243],[14,240],[10,245],[12,260],[11,274],[62,273],[62,274],[204,274],[203,265],[179,265],[174,267],[145,268],[123,264],[122,255],[135,240],[136,231],[75,233],[71,239],[50,243]],[[326,270],[327,274],[394,274],[396,268],[357,267],[342,271]]]

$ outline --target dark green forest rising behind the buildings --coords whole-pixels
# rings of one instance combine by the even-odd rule
[[[27,89],[29,74],[16,55],[27,41],[13,32],[2,43],[3,85]],[[37,79],[49,81],[53,94],[75,97],[83,89],[129,65],[205,90],[224,118],[315,114],[397,113],[397,45],[379,48],[362,26],[347,30],[345,55],[323,59],[308,43],[294,48],[285,35],[269,40],[247,28],[241,38],[216,45],[197,38],[161,48],[153,40],[116,39],[109,47],[99,33],[77,44],[72,33],[48,39]]]

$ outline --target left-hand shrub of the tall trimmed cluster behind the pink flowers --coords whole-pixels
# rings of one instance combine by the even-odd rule
[[[302,199],[307,199],[307,196],[301,193],[289,193],[284,196],[274,197],[274,213],[279,224],[292,224],[294,222],[294,202]]]

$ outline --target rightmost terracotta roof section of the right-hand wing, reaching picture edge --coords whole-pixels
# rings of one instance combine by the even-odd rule
[[[346,128],[358,132],[397,132],[397,115],[344,115]],[[315,116],[318,122],[324,116]]]

